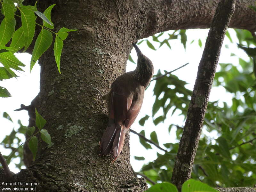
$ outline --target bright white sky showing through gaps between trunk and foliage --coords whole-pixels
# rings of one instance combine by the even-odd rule
[[[155,68],[155,74],[157,73],[158,69],[161,69],[166,71],[172,71],[173,69],[176,69],[185,63],[189,64],[181,68],[175,72],[173,72],[174,75],[178,76],[181,80],[184,80],[188,82],[186,85],[186,88],[193,90],[193,86],[196,79],[196,73],[197,73],[197,67],[199,64],[199,61],[202,56],[203,48],[205,39],[207,37],[209,29],[190,29],[187,30],[187,48],[186,52],[184,51],[183,45],[180,43],[180,40],[171,40],[169,41],[172,50],[169,49],[167,45],[163,45],[160,47],[157,51],[154,51],[150,48],[148,48],[146,42],[143,42],[142,44],[138,45],[140,50],[144,55],[146,55],[154,64]],[[229,29],[229,33],[231,34],[232,40],[234,43],[238,42],[236,38],[235,31],[233,29]],[[168,38],[168,34],[164,34],[163,36],[159,37],[159,40],[163,40],[165,38]],[[192,40],[194,40],[194,43],[190,44]],[[198,45],[198,39],[202,40],[203,48],[200,48]],[[149,40],[155,48],[158,48],[159,43],[153,42],[152,38],[149,37]],[[225,45],[228,45],[229,49],[225,47]],[[65,44],[64,44],[65,46]],[[237,49],[236,44],[231,44],[229,39],[226,37],[222,46],[221,54],[220,54],[220,63],[233,63],[234,65],[238,65],[238,58],[236,56],[230,57],[230,53],[235,53],[239,57],[243,58],[244,60],[248,61],[248,56],[241,50]],[[133,60],[137,61],[137,55],[134,49],[132,49],[131,52]],[[5,87],[8,89],[8,91],[11,93],[11,98],[0,98],[0,142],[4,139],[5,135],[9,135],[12,131],[13,124],[5,119],[1,118],[3,116],[3,112],[7,112],[13,122],[14,122],[14,129],[17,130],[19,128],[19,125],[17,123],[18,119],[21,120],[23,125],[28,125],[28,112],[27,111],[13,111],[17,108],[20,108],[20,104],[29,105],[30,102],[36,97],[37,93],[39,92],[39,77],[40,77],[40,67],[38,64],[34,66],[32,69],[32,72],[29,72],[29,62],[31,56],[27,53],[17,54],[17,57],[20,59],[21,62],[26,64],[26,67],[23,69],[25,72],[17,74],[20,77],[17,77],[17,79],[12,78],[9,80],[0,81],[0,86]],[[131,63],[130,61],[127,62],[127,71],[132,71],[136,67],[135,64]],[[238,66],[238,69],[239,66]],[[57,67],[56,67],[56,70]],[[217,68],[218,71],[218,68]],[[180,126],[184,125],[184,117],[178,116],[179,111],[177,110],[173,116],[171,116],[171,113],[167,115],[167,119],[164,123],[160,123],[157,126],[155,126],[152,122],[152,117],[150,117],[145,125],[142,127],[139,125],[139,120],[144,117],[146,114],[149,116],[152,116],[152,106],[155,101],[155,97],[153,97],[153,88],[155,83],[151,83],[148,87],[147,91],[145,92],[145,98],[142,105],[142,108],[140,110],[140,114],[138,115],[136,121],[132,125],[132,129],[136,132],[140,132],[141,130],[145,130],[146,137],[150,139],[150,133],[152,131],[156,131],[158,136],[159,145],[164,148],[164,143],[169,142],[178,142],[175,141],[175,132],[176,129],[173,128],[171,130],[171,133],[168,133],[168,127],[170,124],[178,124]],[[225,95],[225,96],[224,96]],[[220,97],[221,96],[221,97]],[[224,97],[223,97],[224,96]],[[223,87],[220,88],[212,88],[212,92],[210,95],[210,101],[220,100],[220,101],[226,101],[229,105],[232,104],[231,102],[232,94],[225,92],[225,89]],[[171,112],[171,111],[170,111]],[[162,115],[162,111],[158,111],[155,115],[155,118]],[[205,134],[210,134],[214,137],[216,135],[216,132],[214,133],[207,133],[203,130]],[[25,137],[23,135],[20,135],[21,138],[25,141]],[[159,150],[155,146],[152,145],[153,149],[145,149],[142,145],[139,143],[139,138],[137,135],[130,133],[130,147],[131,147],[131,164],[133,166],[134,171],[139,171],[143,164],[148,163],[149,161],[153,161],[156,159],[156,151],[163,154],[163,151]],[[17,146],[13,146],[17,147]],[[0,146],[0,151],[3,155],[7,155],[10,153],[10,150],[4,149],[2,146]],[[134,156],[144,156],[146,160],[144,161],[137,161],[134,159]],[[15,159],[10,164],[10,169],[12,172],[19,172],[17,168],[15,168],[14,163],[18,163],[19,160]],[[24,167],[25,168],[25,167]]]

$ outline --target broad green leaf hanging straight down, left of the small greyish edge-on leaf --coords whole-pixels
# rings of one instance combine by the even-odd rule
[[[21,15],[21,24],[24,31],[24,38],[25,38],[25,48],[24,51],[28,49],[28,46],[31,44],[34,34],[35,34],[35,27],[36,27],[36,16],[33,6],[22,6],[19,8],[20,15]]]

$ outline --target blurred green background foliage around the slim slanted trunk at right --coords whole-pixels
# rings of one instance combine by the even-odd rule
[[[232,63],[219,64],[220,69],[215,74],[213,86],[223,87],[231,93],[232,105],[218,100],[208,103],[203,128],[207,132],[217,131],[217,136],[213,139],[202,135],[191,175],[191,178],[201,180],[212,187],[252,187],[256,182],[256,49],[253,47],[256,41],[249,31],[235,29],[235,32],[239,40],[238,47],[243,49],[251,59],[247,62],[238,58],[238,66]],[[169,36],[174,38],[175,33],[177,32],[169,33]],[[227,37],[236,46],[236,42],[231,39],[229,33]],[[153,41],[158,42],[158,39],[157,36],[153,36]],[[183,41],[186,42],[184,39],[185,37]],[[160,44],[164,43],[160,42]],[[198,44],[202,47],[203,43],[200,39]],[[158,71],[156,77],[161,75],[162,73]],[[156,80],[154,88],[156,99],[152,107],[152,115],[154,117],[160,112],[160,116],[153,118],[155,125],[164,122],[176,110],[186,117],[192,92],[186,89],[185,85],[186,82],[172,74]],[[143,117],[140,125],[143,126],[148,119],[147,115]],[[182,127],[171,124],[169,132],[172,128],[177,128],[176,137],[179,140]],[[150,139],[158,143],[155,139],[157,135],[151,134]],[[141,140],[141,144],[145,147],[145,143]],[[157,153],[157,158],[144,165],[140,171],[154,182],[170,182],[172,177],[179,144],[163,143],[163,145],[168,152],[163,155]],[[183,190],[185,187],[182,188]]]

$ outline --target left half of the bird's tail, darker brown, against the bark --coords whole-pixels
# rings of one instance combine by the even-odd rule
[[[114,119],[109,119],[108,126],[100,140],[100,156],[111,152],[113,142],[116,136],[116,125]]]

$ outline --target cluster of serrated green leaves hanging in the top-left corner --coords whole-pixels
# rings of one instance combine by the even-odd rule
[[[63,40],[67,38],[68,32],[76,31],[76,29],[61,28],[59,32],[55,33],[50,30],[54,28],[51,21],[51,11],[55,4],[49,6],[44,11],[44,13],[41,13],[37,11],[36,4],[34,6],[25,6],[22,4],[22,2],[22,0],[0,1],[1,13],[4,15],[4,19],[0,24],[0,63],[4,66],[0,69],[0,80],[17,77],[12,69],[16,71],[22,71],[20,67],[25,66],[13,55],[13,53],[18,52],[22,48],[24,48],[23,50],[26,51],[30,46],[35,35],[35,27],[37,24],[36,15],[43,20],[43,25],[40,25],[42,30],[36,38],[36,43],[32,52],[30,71],[32,70],[36,61],[52,44],[52,33],[54,33],[56,38],[53,50],[57,68],[60,72],[60,55],[63,48]],[[16,14],[18,10],[20,12],[20,16]],[[21,18],[21,27],[16,31],[16,20],[14,15]],[[10,39],[10,47],[5,46],[10,41]],[[8,92],[6,91],[5,93]],[[6,96],[8,96],[8,94],[0,94],[0,97]]]

